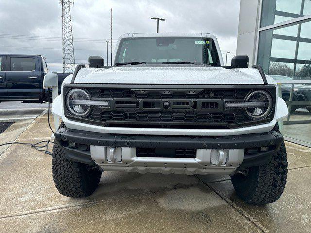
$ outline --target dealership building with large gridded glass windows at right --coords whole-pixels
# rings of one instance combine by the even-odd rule
[[[311,0],[241,0],[237,55],[281,86],[285,138],[311,147]]]

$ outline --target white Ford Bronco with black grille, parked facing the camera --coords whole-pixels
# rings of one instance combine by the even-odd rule
[[[208,33],[122,35],[114,66],[90,57],[62,84],[52,113],[53,178],[68,197],[91,195],[103,171],[230,175],[242,200],[279,199],[288,114],[274,79],[247,56],[224,66]]]

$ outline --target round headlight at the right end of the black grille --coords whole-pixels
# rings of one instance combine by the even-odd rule
[[[250,105],[246,108],[246,113],[253,119],[266,117],[272,109],[272,98],[266,91],[251,92],[246,98],[246,103],[254,103],[254,107]]]

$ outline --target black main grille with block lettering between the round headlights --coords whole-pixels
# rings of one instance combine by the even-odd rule
[[[152,89],[145,88],[146,85],[132,85],[133,88],[98,86],[82,88],[90,93],[92,100],[108,100],[108,108],[93,106],[87,116],[66,116],[102,126],[178,129],[233,129],[262,124],[273,118],[273,114],[270,114],[256,121],[247,116],[244,108],[225,107],[226,102],[245,101],[248,93],[261,89],[262,85],[247,88],[239,85],[224,88],[218,85],[208,89],[200,88],[200,85],[193,89],[188,86],[184,89],[183,86],[178,86],[178,89],[157,89],[160,85],[152,86]],[[269,89],[272,96],[275,95],[273,86],[264,88]]]

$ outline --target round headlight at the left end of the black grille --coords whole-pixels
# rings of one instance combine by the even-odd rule
[[[91,100],[90,95],[85,90],[70,90],[66,96],[68,110],[75,116],[86,116],[90,111],[90,106],[84,104],[84,100]]]

